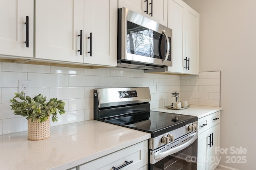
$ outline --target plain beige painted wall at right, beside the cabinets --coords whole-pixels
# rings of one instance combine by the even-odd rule
[[[256,1],[183,1],[200,13],[199,71],[221,71],[220,147],[229,150],[220,155],[220,164],[255,169]],[[230,147],[245,148],[247,153],[232,154]],[[246,156],[245,164],[228,162],[239,156]]]

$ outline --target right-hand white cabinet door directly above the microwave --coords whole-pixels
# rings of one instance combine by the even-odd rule
[[[148,18],[167,27],[168,0],[148,0]]]

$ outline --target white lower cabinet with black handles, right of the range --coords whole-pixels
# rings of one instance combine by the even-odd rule
[[[197,169],[214,170],[220,163],[220,111],[198,119]]]

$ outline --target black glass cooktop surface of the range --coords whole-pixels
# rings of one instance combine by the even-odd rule
[[[154,138],[197,120],[196,116],[145,111],[104,121],[151,133],[151,137]]]

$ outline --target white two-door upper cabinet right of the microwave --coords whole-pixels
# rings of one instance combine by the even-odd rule
[[[168,72],[198,74],[199,14],[182,0],[168,1],[168,27],[172,29],[172,67]]]

